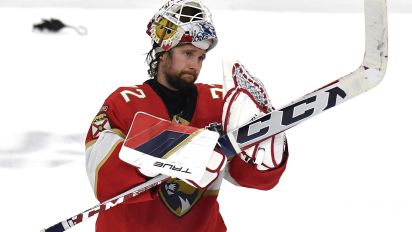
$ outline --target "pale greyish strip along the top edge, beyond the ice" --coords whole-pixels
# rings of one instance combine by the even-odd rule
[[[223,10],[263,10],[263,11],[326,11],[326,12],[353,12],[360,11],[359,0],[209,0],[207,5],[213,9]],[[158,9],[164,1],[141,0],[2,0],[0,6],[4,7],[58,7],[58,8],[92,8],[92,9]],[[408,0],[391,0],[388,4],[394,12],[410,12],[412,3]]]

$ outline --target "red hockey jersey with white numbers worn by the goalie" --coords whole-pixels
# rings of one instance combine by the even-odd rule
[[[189,125],[204,128],[220,123],[220,85],[196,84],[197,101]],[[121,87],[104,102],[86,138],[86,167],[99,201],[105,201],[147,180],[135,167],[119,159],[119,150],[136,112],[143,111],[169,120],[167,108],[148,84]],[[283,151],[282,151],[283,152]],[[258,171],[238,156],[206,189],[197,189],[171,179],[110,210],[101,212],[96,231],[226,231],[217,196],[224,175],[237,185],[271,189],[279,181],[286,162],[269,171]]]

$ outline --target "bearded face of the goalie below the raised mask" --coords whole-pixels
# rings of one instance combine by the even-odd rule
[[[206,51],[183,44],[165,53],[159,64],[157,81],[172,90],[185,90],[193,86],[202,68]]]

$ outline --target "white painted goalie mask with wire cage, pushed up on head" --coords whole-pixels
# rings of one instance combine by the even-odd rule
[[[179,43],[191,43],[209,51],[217,44],[217,36],[209,9],[200,0],[170,0],[153,16],[146,33],[166,52]]]

